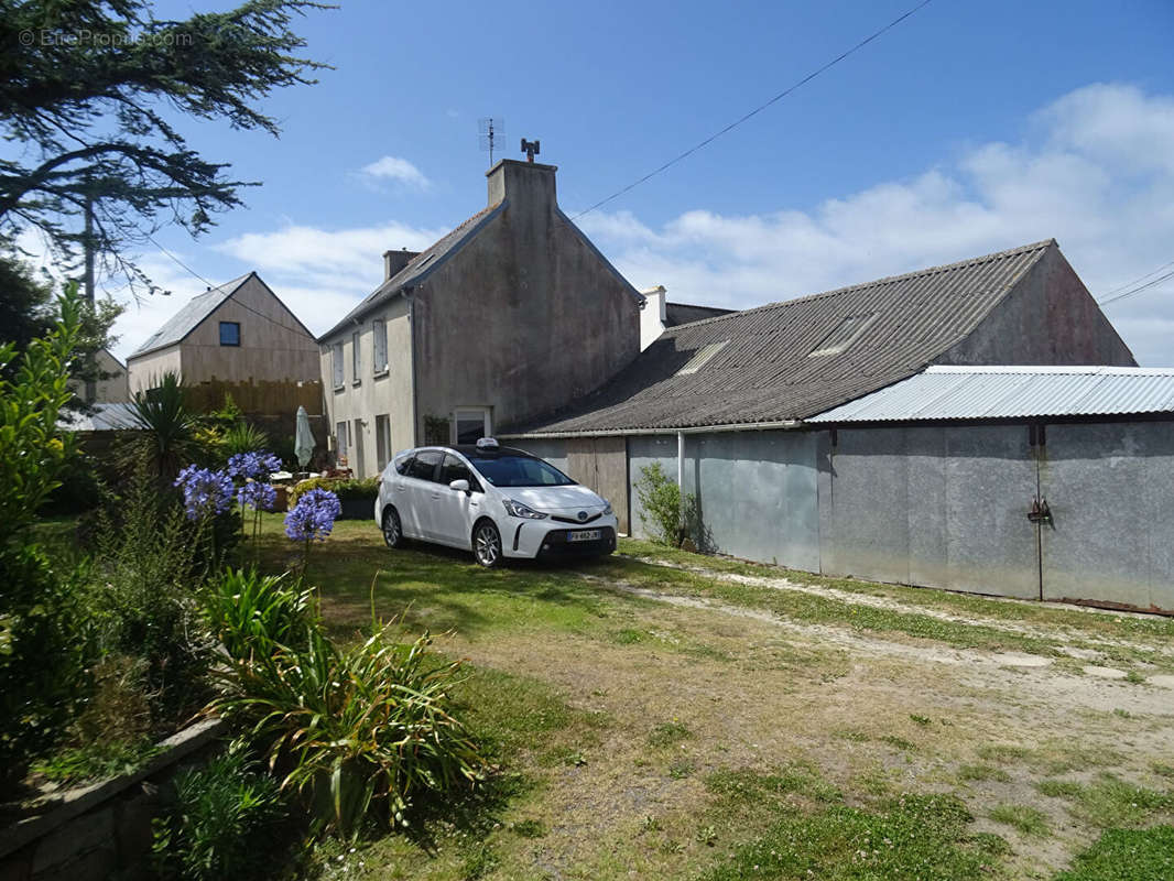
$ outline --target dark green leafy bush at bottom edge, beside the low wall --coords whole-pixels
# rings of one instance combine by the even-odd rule
[[[212,759],[175,778],[175,802],[155,820],[162,879],[247,881],[272,877],[275,827],[285,818],[277,782],[243,753]]]

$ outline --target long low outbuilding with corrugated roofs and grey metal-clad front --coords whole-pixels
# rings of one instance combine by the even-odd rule
[[[672,328],[499,437],[636,534],[660,463],[708,550],[1174,611],[1172,426],[1174,370],[1136,368],[1046,241]]]

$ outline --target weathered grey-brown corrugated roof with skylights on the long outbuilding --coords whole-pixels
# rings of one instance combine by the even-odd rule
[[[501,435],[623,433],[815,416],[923,370],[970,335],[1054,247],[1047,240],[670,328],[576,406],[504,426]],[[848,318],[868,318],[858,321],[863,327],[851,344],[812,356],[835,348],[830,343]],[[677,375],[704,347],[713,347],[711,357]]]

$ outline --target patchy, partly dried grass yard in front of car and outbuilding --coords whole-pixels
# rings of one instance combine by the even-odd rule
[[[620,550],[484,571],[366,522],[313,547],[336,634],[396,618],[467,659],[500,766],[406,834],[319,846],[321,876],[1172,876],[1174,692],[1146,681],[1170,621]],[[296,563],[277,516],[262,559]]]

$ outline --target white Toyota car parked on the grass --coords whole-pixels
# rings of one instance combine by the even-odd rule
[[[486,567],[507,557],[612,553],[618,525],[607,499],[488,437],[397,453],[379,480],[375,519],[387,547],[434,542],[472,551]]]

